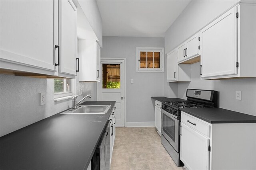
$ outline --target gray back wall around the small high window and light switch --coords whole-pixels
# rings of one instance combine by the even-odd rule
[[[155,120],[150,97],[164,95],[164,73],[136,73],[136,47],[164,47],[164,38],[103,37],[101,57],[126,58],[126,122],[150,122]]]

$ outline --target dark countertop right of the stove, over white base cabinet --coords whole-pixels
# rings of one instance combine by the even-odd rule
[[[180,108],[194,117],[208,123],[256,123],[256,116],[222,108]]]

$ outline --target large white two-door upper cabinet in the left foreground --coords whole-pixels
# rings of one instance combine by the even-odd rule
[[[0,8],[1,72],[75,78],[76,8],[71,0],[0,1]]]

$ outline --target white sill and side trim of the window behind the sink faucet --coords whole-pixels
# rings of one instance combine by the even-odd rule
[[[71,92],[61,92],[54,94],[54,102],[72,98],[76,94],[76,79],[71,79]]]

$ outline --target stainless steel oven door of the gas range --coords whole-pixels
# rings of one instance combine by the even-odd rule
[[[162,109],[162,135],[179,152],[179,117]]]

